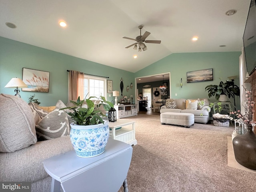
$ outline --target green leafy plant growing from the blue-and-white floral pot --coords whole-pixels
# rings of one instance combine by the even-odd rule
[[[96,98],[96,106],[94,102],[91,100],[92,98]],[[86,101],[87,108],[83,107],[84,101]],[[73,122],[77,125],[95,125],[103,123],[101,116],[105,116],[100,110],[100,106],[103,106],[106,111],[109,111],[110,108],[114,108],[114,104],[107,101],[105,97],[100,96],[99,98],[91,96],[88,99],[80,100],[80,96],[77,101],[70,101],[74,106],[62,108],[60,110],[69,109],[72,112],[66,111],[66,113],[70,116]]]

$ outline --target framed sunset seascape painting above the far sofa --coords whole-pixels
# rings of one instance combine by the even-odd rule
[[[212,80],[213,80],[212,69],[204,69],[204,70],[187,72],[187,83],[212,81]]]

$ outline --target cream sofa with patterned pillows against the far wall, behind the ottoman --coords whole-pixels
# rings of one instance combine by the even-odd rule
[[[190,109],[189,106],[192,106],[193,104],[195,104],[196,100],[198,101],[196,109],[195,108]],[[191,102],[191,104],[189,104],[189,101]],[[169,102],[172,102],[172,105],[169,105],[170,108],[168,108],[168,106],[167,106],[169,104]],[[176,107],[174,106],[174,103],[176,104]],[[210,102],[207,98],[167,99],[166,105],[161,107],[160,113],[164,113],[164,112],[192,113],[192,114],[194,114],[194,118],[195,118],[194,122],[195,123],[207,124],[209,121],[209,118],[210,118],[209,112],[211,110],[209,105],[210,105]]]

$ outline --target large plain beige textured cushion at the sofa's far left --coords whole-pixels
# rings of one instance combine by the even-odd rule
[[[0,108],[0,152],[14,152],[35,144],[35,123],[27,102],[0,94]]]

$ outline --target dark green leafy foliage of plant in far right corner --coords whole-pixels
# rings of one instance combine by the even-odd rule
[[[205,91],[208,91],[209,98],[215,96],[216,100],[220,98],[220,95],[226,95],[228,98],[234,96],[240,96],[240,88],[234,84],[234,81],[226,81],[225,83],[220,81],[219,85],[208,85],[205,87]]]

